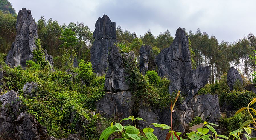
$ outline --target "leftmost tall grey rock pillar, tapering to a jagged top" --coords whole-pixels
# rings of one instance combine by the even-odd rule
[[[31,15],[31,11],[22,8],[17,16],[16,38],[12,44],[6,59],[6,64],[11,67],[26,67],[26,61],[33,59],[33,51],[36,48],[35,39],[38,38],[37,25]]]

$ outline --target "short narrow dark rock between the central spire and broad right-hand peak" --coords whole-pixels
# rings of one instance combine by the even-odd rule
[[[154,70],[154,54],[151,46],[140,47],[140,72],[145,75],[148,70]]]

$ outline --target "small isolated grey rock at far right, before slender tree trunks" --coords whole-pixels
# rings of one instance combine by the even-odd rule
[[[230,87],[230,90],[233,90],[233,86],[237,80],[239,80],[241,84],[243,84],[242,76],[239,74],[236,68],[230,67],[227,72],[227,85]]]

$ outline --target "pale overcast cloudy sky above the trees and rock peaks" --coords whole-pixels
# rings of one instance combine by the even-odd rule
[[[30,9],[37,21],[41,16],[61,25],[84,22],[91,31],[107,14],[116,27],[154,36],[178,27],[196,32],[198,28],[221,40],[234,42],[250,32],[256,35],[256,0],[9,0],[18,13]]]

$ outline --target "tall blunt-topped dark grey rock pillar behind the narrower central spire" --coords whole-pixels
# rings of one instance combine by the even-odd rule
[[[99,18],[93,32],[91,62],[95,73],[103,75],[108,70],[109,48],[116,43],[116,23],[111,22],[107,15]]]

